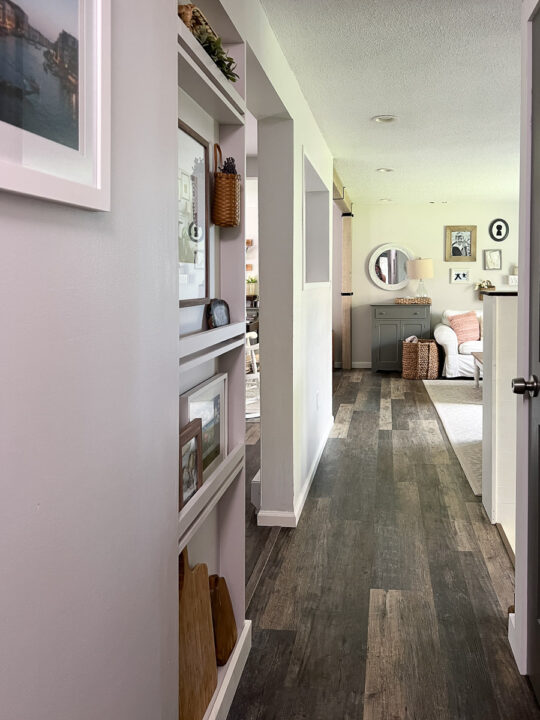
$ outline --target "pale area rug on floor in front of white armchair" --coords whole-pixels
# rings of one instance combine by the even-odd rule
[[[475,495],[482,494],[482,388],[474,380],[424,380]]]

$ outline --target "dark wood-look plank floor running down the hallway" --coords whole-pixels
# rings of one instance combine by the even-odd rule
[[[229,720],[527,720],[513,569],[421,382],[343,373],[298,528],[248,616]]]

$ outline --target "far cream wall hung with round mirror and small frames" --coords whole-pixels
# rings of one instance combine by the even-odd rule
[[[493,204],[448,205],[355,205],[353,220],[353,363],[371,362],[370,303],[392,302],[395,297],[414,295],[416,281],[405,290],[395,293],[381,290],[368,274],[368,261],[372,251],[384,243],[404,245],[419,257],[431,257],[434,275],[426,280],[433,299],[432,324],[439,321],[447,308],[468,310],[482,308],[473,285],[451,285],[450,268],[471,270],[472,281],[489,279],[498,289],[511,289],[505,278],[512,266],[518,264],[518,201]],[[504,242],[489,237],[489,224],[502,217],[510,223],[510,233]],[[446,225],[477,225],[477,260],[475,263],[444,261]],[[502,272],[483,270],[483,250],[502,250]],[[512,288],[514,289],[514,288]]]

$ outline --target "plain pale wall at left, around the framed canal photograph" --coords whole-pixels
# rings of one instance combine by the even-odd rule
[[[112,11],[112,212],[0,193],[6,720],[177,718],[175,5]]]

